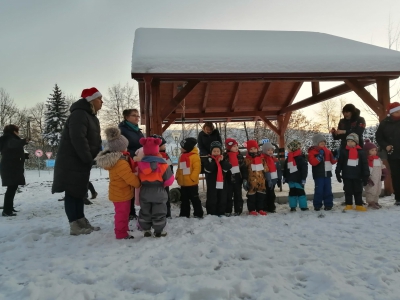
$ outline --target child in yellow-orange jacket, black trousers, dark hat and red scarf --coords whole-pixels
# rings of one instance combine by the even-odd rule
[[[195,218],[203,218],[203,207],[199,197],[199,175],[201,162],[199,149],[195,147],[197,140],[192,137],[180,142],[181,156],[179,157],[176,181],[181,186],[180,217],[190,217],[190,201],[193,205]]]

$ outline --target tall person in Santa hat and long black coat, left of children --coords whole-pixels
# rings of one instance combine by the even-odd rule
[[[101,149],[100,123],[102,95],[96,88],[84,89],[81,99],[70,107],[63,129],[54,167],[52,193],[65,192],[65,212],[70,234],[88,234],[100,230],[85,218],[84,198],[88,190],[90,170]]]

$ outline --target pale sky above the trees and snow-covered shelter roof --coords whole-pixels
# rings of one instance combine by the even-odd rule
[[[387,47],[399,0],[0,0],[0,87],[18,106],[132,82],[138,27],[305,30]]]

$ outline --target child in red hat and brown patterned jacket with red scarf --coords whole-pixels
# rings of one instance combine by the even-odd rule
[[[247,141],[246,148],[247,155],[244,161],[247,172],[243,174],[243,188],[247,192],[249,215],[266,216],[267,213],[264,211],[265,173],[268,172],[268,167],[259,152],[257,141]]]

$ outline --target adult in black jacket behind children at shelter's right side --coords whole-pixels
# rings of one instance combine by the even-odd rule
[[[343,106],[342,113],[344,118],[340,119],[338,129],[332,128],[331,133],[334,140],[340,140],[340,148],[346,148],[346,137],[350,133],[356,133],[360,140],[360,147],[364,146],[363,133],[365,130],[365,120],[360,117],[360,110],[353,104]]]

